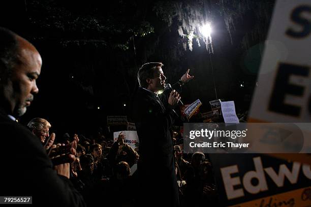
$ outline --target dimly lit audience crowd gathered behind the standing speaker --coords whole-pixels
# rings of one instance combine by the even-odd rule
[[[36,125],[34,120],[45,123],[37,128],[41,133],[35,134],[34,129],[29,127]],[[49,139],[46,135],[49,134],[50,123],[45,119],[35,118],[27,125],[38,140],[41,141],[42,136],[46,137],[42,145],[48,146]],[[120,133],[115,142],[113,137],[105,136],[101,132],[97,133],[95,138],[91,136],[90,139],[82,134],[65,136],[67,140],[58,145],[78,141],[76,159],[70,164],[70,180],[83,196],[87,206],[95,206],[98,203],[105,206],[137,206],[140,203],[138,185],[140,175],[136,170],[140,158],[139,148],[133,149],[129,146],[125,142],[127,138],[125,134]],[[205,206],[206,203],[217,206],[217,190],[212,166],[206,155],[202,152],[183,154],[182,136],[172,131],[172,138],[180,206]],[[153,164],[149,170],[157,171],[157,165]],[[154,180],[149,179],[147,184],[149,188],[153,187]]]

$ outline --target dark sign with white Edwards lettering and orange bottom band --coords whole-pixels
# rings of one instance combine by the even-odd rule
[[[221,206],[311,205],[310,165],[262,154],[210,154]]]

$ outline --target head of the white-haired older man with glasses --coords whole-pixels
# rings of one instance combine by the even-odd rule
[[[34,118],[28,122],[27,127],[40,139],[41,143],[44,145],[46,138],[49,137],[51,124],[46,119]]]

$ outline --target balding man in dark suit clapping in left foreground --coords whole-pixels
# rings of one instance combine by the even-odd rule
[[[69,162],[53,169],[38,137],[15,121],[39,92],[36,80],[41,65],[41,56],[32,44],[0,27],[0,162],[5,166],[0,194],[32,196],[38,206],[84,206],[82,196],[69,180]],[[14,146],[14,153],[9,146]],[[75,160],[75,147],[73,142],[64,155],[68,160]]]

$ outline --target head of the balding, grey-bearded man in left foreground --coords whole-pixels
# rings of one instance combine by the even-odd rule
[[[16,33],[0,27],[0,107],[8,114],[26,112],[39,89],[42,60],[37,49]]]

